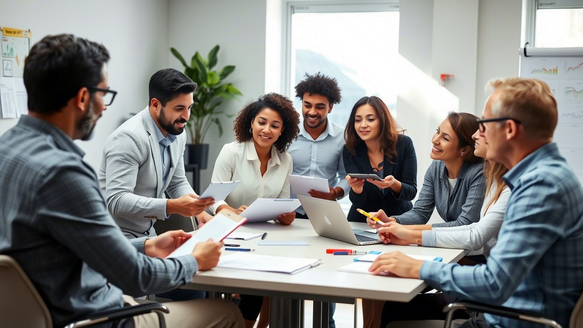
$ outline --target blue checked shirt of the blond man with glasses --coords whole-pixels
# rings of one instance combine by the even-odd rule
[[[464,299],[540,313],[568,327],[583,292],[583,187],[550,143],[504,176],[512,191],[486,264],[426,261],[420,279]],[[489,327],[540,327],[484,315]]]

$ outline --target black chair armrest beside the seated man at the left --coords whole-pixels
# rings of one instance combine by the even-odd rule
[[[65,328],[86,327],[97,323],[120,320],[126,317],[145,315],[146,313],[152,312],[156,312],[158,314],[158,319],[160,320],[160,327],[166,326],[166,324],[164,323],[164,316],[161,315],[161,313],[162,312],[170,313],[170,310],[168,310],[168,308],[166,308],[166,306],[164,306],[161,303],[150,302],[134,306],[124,306],[123,308],[114,310],[93,313],[89,318],[69,323],[68,325],[65,326]]]

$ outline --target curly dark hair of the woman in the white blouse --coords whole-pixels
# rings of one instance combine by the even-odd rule
[[[300,133],[300,114],[294,109],[293,103],[288,97],[272,92],[260,96],[254,102],[248,102],[243,109],[237,114],[234,121],[233,130],[238,142],[247,142],[253,139],[253,133],[250,130],[251,121],[259,111],[269,108],[275,110],[283,119],[282,135],[273,143],[279,152],[287,151],[291,142],[297,139]]]

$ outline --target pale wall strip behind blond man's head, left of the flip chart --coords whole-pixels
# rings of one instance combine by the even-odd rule
[[[482,116],[491,78],[518,76],[521,0],[480,1],[477,39],[476,115]]]

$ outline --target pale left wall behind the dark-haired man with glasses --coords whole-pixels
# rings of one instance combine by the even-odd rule
[[[118,95],[97,123],[93,139],[78,142],[86,162],[99,169],[107,137],[128,113],[146,106],[150,76],[168,64],[167,2],[2,0],[0,7],[0,24],[30,29],[33,43],[47,34],[72,33],[110,51],[109,83]],[[16,123],[16,118],[0,119],[0,135]]]

